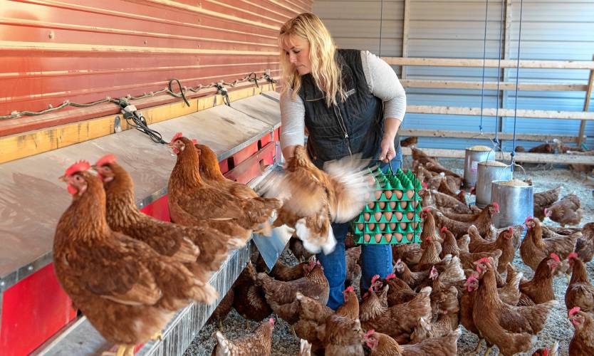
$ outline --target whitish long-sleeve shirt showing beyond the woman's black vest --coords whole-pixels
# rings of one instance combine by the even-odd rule
[[[369,51],[361,51],[363,73],[370,92],[384,102],[384,118],[394,117],[402,121],[406,111],[406,93],[398,76],[389,64]],[[288,88],[281,95],[281,147],[303,145],[305,140],[306,108],[303,100]]]

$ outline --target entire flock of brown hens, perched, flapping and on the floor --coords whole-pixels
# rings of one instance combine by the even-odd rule
[[[594,223],[579,229],[541,222],[580,224],[575,194],[560,200],[560,189],[534,194],[534,217],[497,230],[496,202],[469,206],[459,192],[462,177],[412,147],[424,184],[422,244],[393,245],[394,273],[358,291],[360,246],[347,239],[345,303],[331,310],[328,281],[312,253],[332,251],[330,223],[353,219],[373,194],[367,162],[350,157],[321,171],[298,146],[284,172],[269,174],[256,194],[226,179],[214,152],[196,140],[178,133],[168,147],[177,155],[168,186],[171,223],[137,209],[132,178],[113,155],[94,165],[75,162],[61,177],[72,202],[56,226],[56,274],[73,306],[118,345],[118,356],[162,337],[189,303],[214,303],[219,295],[208,281],[229,252],[252,232],[270,236],[286,226],[298,237],[289,248],[302,262],[278,261],[266,273],[261,256],[252,256],[212,319],[220,325],[235,308],[261,325],[235,340],[215,332],[212,355],[270,355],[272,313],[301,339],[300,355],[456,355],[460,324],[479,336],[477,350],[484,340],[489,350],[514,355],[531,349],[558,303],[558,274],[570,277],[569,355],[594,355],[594,287],[584,264],[594,255]],[[531,281],[512,264],[518,248],[535,271]]]

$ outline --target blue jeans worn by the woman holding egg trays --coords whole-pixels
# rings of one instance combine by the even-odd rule
[[[402,151],[398,150],[396,157],[392,159],[392,169],[396,170],[402,165]],[[385,173],[389,164],[380,165]],[[332,224],[332,231],[336,238],[336,247],[328,255],[318,253],[318,260],[324,268],[324,275],[330,285],[330,297],[328,298],[328,307],[336,309],[343,305],[343,290],[345,289],[346,279],[346,260],[345,260],[345,238],[348,232],[349,223]],[[392,273],[392,247],[390,245],[371,245],[361,246],[361,294],[368,290],[371,278],[376,274],[385,278]]]

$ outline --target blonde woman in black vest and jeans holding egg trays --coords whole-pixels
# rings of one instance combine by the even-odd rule
[[[382,169],[392,160],[400,167],[398,127],[405,115],[406,95],[394,70],[368,51],[336,49],[322,21],[300,14],[287,21],[279,36],[283,93],[281,147],[286,159],[303,145],[308,130],[308,153],[318,168],[332,159],[362,153],[380,159]],[[346,276],[345,237],[348,224],[332,224],[335,251],[318,254],[330,284],[328,306],[343,304]],[[375,274],[392,271],[389,245],[364,245],[361,251],[361,290]]]

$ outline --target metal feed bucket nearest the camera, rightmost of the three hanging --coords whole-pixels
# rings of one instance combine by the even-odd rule
[[[501,184],[503,182],[507,180],[491,184],[491,200],[499,204],[499,214],[493,216],[493,224],[498,229],[523,224],[528,216],[534,214],[534,187]]]

